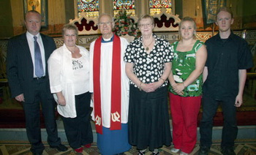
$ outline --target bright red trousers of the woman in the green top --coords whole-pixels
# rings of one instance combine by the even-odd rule
[[[169,96],[174,147],[189,154],[197,142],[197,115],[201,96],[180,97],[172,93],[169,93]]]

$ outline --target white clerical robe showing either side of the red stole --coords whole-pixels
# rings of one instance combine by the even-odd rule
[[[120,37],[121,41],[121,123],[128,122],[129,108],[129,78],[125,73],[124,53],[127,48],[127,39]],[[90,45],[90,92],[94,92],[93,80],[93,59],[94,59],[94,42]],[[100,94],[101,94],[101,110],[102,110],[102,126],[110,128],[110,111],[111,111],[111,78],[112,78],[112,55],[113,42],[102,43],[100,57]],[[91,102],[91,107],[94,104]],[[94,110],[91,113],[94,120]]]

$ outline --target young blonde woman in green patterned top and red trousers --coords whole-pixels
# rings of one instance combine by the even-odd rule
[[[195,39],[196,23],[192,18],[181,20],[181,40],[174,42],[170,76],[170,110],[173,123],[173,153],[189,154],[197,140],[197,114],[200,110],[203,68],[207,52],[203,42]]]

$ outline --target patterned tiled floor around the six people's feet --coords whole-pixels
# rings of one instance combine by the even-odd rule
[[[65,144],[65,143],[64,143]],[[67,145],[67,144],[66,144]],[[160,154],[170,155],[173,154],[170,152],[170,148],[173,146],[163,148],[159,148]],[[27,142],[23,141],[0,141],[0,154],[3,155],[31,155],[29,151],[30,145]],[[194,151],[192,151],[191,155],[196,155],[199,150],[199,146],[196,145]],[[237,155],[255,155],[256,154],[256,139],[252,140],[238,140],[235,145],[235,152]],[[76,154],[72,148],[69,148],[68,151],[59,152],[53,148],[49,148],[47,144],[45,144],[45,151],[43,155],[72,155]],[[99,150],[97,149],[97,144],[94,143],[91,148],[84,148],[82,154],[90,154],[90,155],[98,155]],[[137,150],[135,147],[132,147],[131,150],[125,152],[126,155],[135,155],[137,154]],[[211,147],[210,151],[211,155],[219,155],[220,153],[220,145],[219,141],[215,141]],[[146,152],[146,155],[151,155],[150,151]]]

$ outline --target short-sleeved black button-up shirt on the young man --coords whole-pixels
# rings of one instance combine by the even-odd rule
[[[252,53],[247,42],[231,32],[227,39],[219,34],[206,41],[208,77],[203,85],[203,93],[214,99],[236,97],[239,88],[239,69],[253,67]]]

